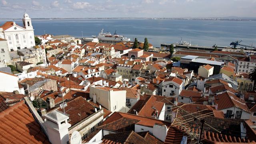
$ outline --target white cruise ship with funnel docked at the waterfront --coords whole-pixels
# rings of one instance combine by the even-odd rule
[[[98,34],[98,36],[92,36],[93,38],[98,38],[103,41],[113,41],[113,42],[129,42],[130,38],[126,38],[124,36],[116,34],[116,32],[112,35],[110,32],[103,33],[103,29]]]

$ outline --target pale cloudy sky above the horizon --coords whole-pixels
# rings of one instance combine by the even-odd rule
[[[256,17],[256,0],[0,0],[0,18]]]

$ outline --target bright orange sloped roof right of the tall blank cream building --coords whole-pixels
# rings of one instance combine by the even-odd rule
[[[130,108],[128,113],[130,114],[136,114],[138,113],[139,116],[159,116],[160,112],[162,111],[162,108],[164,106],[164,102],[158,102],[156,101],[156,98],[154,96],[148,96],[146,100],[139,100]],[[134,112],[136,110],[136,112]],[[156,113],[158,111],[158,114]],[[157,117],[156,117],[157,118]]]

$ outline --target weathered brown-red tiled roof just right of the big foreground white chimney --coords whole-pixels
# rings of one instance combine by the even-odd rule
[[[74,126],[74,124],[95,113],[95,108],[82,98],[82,96],[70,100],[67,104],[68,106],[66,106],[65,109],[66,114],[69,114],[70,121],[68,123],[70,123],[71,126]],[[63,112],[61,108],[58,108],[58,110]]]

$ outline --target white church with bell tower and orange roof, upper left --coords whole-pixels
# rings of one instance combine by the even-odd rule
[[[7,40],[9,52],[35,46],[34,29],[26,12],[22,21],[23,26],[15,22],[6,22],[0,26],[0,38]]]

